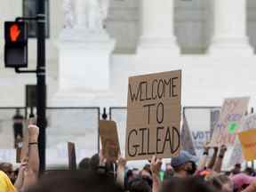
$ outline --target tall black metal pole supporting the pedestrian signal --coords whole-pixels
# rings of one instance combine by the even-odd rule
[[[40,172],[45,170],[45,128],[46,128],[46,89],[45,89],[45,4],[44,0],[37,0],[37,74],[36,74],[36,115],[39,131]]]

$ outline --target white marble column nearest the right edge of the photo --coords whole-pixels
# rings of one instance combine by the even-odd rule
[[[209,53],[252,55],[246,35],[246,0],[214,0],[214,30]]]

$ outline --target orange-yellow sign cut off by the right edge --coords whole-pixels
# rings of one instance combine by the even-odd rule
[[[252,129],[238,134],[242,144],[243,154],[246,161],[256,159],[256,129]]]

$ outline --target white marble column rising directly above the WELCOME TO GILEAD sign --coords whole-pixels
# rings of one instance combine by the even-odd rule
[[[173,0],[141,0],[141,36],[138,52],[167,51],[179,54],[173,29]]]

